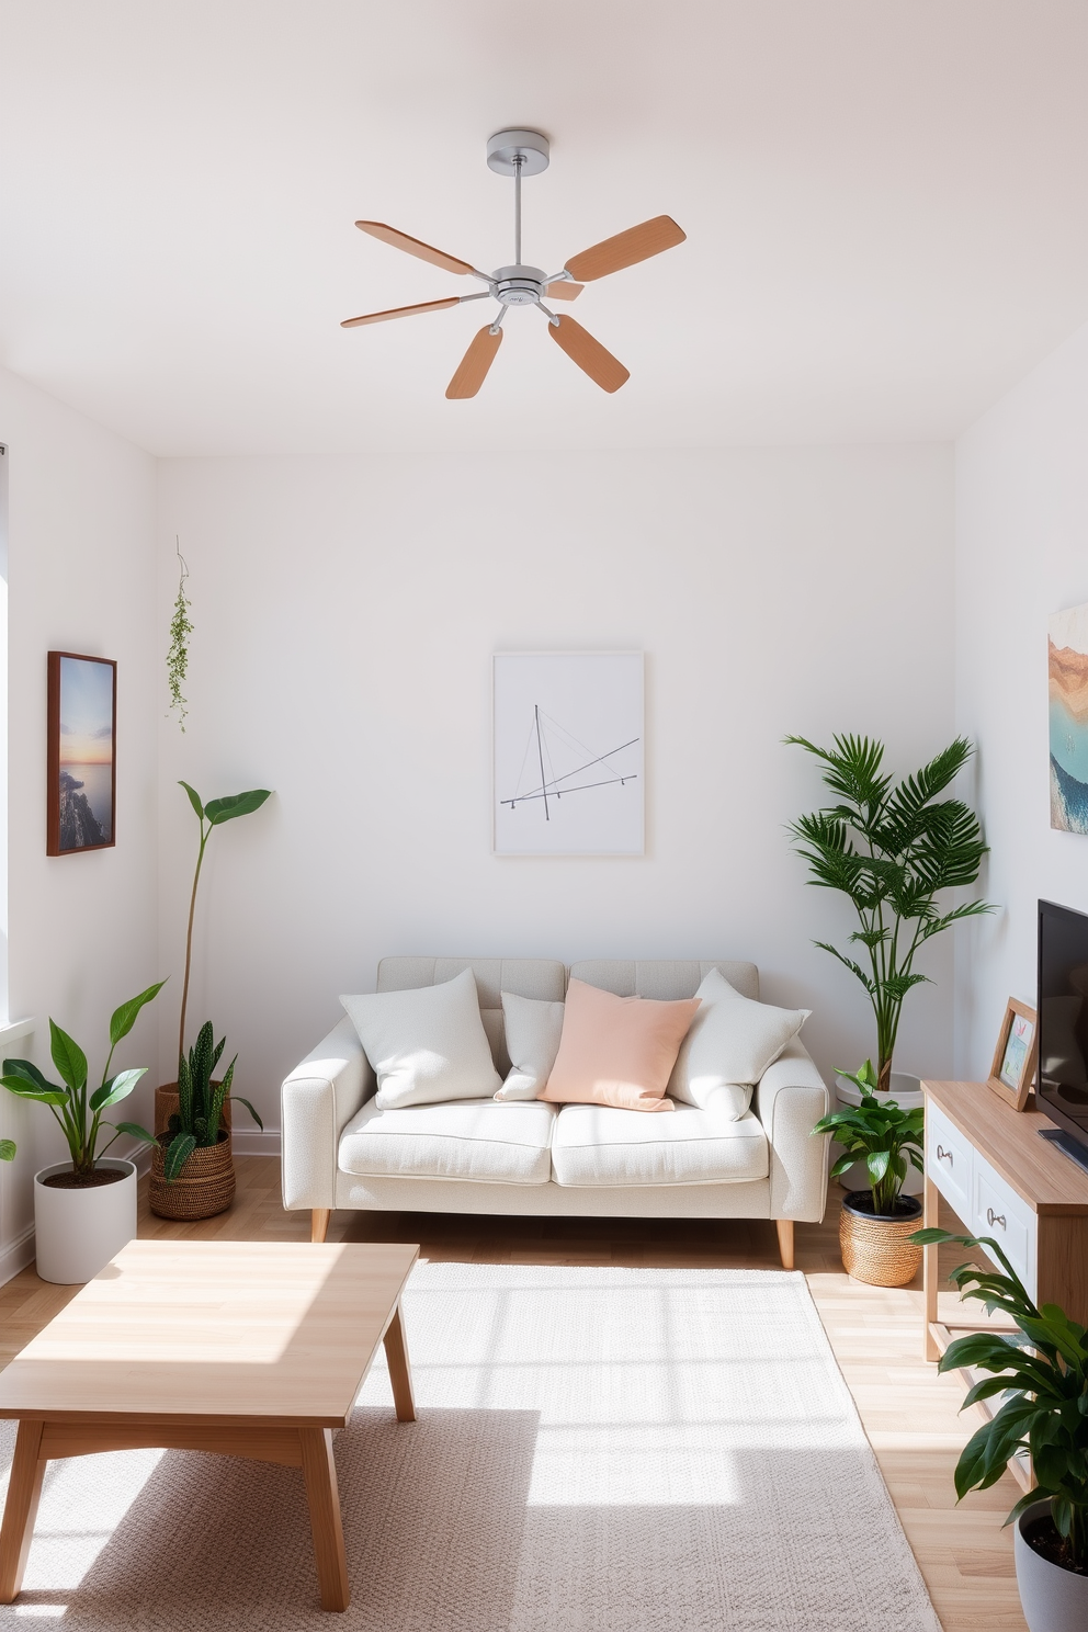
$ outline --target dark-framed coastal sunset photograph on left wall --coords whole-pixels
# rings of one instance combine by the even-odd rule
[[[49,653],[46,855],[114,844],[117,664]]]

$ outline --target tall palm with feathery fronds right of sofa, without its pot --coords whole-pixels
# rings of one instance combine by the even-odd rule
[[[899,1018],[907,992],[928,976],[915,969],[920,948],[959,919],[992,912],[987,901],[940,907],[948,889],[974,885],[988,845],[974,811],[962,800],[938,795],[959,775],[972,754],[959,736],[943,752],[902,782],[882,769],[884,744],[868,736],[835,736],[834,747],[817,747],[788,736],[820,761],[824,787],[834,805],[789,824],[794,849],[809,863],[809,883],[847,896],[858,917],[850,942],[858,958],[816,945],[838,958],[865,986],[876,1020],[876,1092],[887,1093]]]

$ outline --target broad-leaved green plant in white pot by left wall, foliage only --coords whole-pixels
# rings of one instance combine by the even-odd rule
[[[145,992],[114,1009],[109,1020],[109,1056],[103,1080],[95,1090],[88,1092],[86,1054],[67,1031],[60,1030],[55,1020],[49,1022],[49,1041],[60,1082],[49,1082],[29,1059],[5,1059],[3,1062],[0,1085],[18,1098],[38,1100],[52,1111],[67,1141],[77,1180],[90,1182],[95,1164],[122,1133],[142,1144],[155,1144],[155,1136],[147,1128],[140,1128],[139,1123],[111,1123],[103,1113],[126,1100],[140,1077],[147,1074],[147,1066],[137,1066],[134,1071],[119,1071],[111,1077],[109,1067],[117,1043],[129,1035],[144,1004],[150,1004],[165,984],[165,981],[157,981]],[[98,1139],[104,1128],[113,1128],[113,1139],[108,1139],[100,1151]],[[3,1142],[11,1144],[10,1139]],[[15,1146],[11,1146],[11,1155],[15,1155]]]

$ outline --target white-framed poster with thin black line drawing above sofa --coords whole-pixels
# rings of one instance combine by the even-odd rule
[[[641,651],[493,659],[496,855],[643,855]]]

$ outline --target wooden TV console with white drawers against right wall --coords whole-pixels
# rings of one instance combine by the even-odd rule
[[[966,1235],[1000,1240],[1037,1304],[1060,1304],[1088,1325],[1088,1173],[1039,1138],[1041,1128],[1054,1128],[1050,1118],[1015,1111],[985,1082],[923,1082],[922,1089],[927,1227],[938,1222],[940,1193]],[[948,1325],[938,1322],[936,1255],[936,1247],[925,1247],[927,1359],[940,1359],[951,1342]]]

